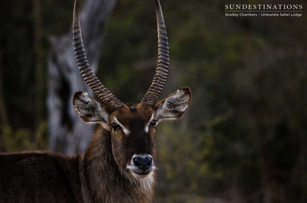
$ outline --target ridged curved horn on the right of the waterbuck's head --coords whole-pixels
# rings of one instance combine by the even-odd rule
[[[159,0],[156,0],[157,26],[158,26],[158,64],[153,82],[141,103],[154,107],[167,78],[169,69],[169,47],[163,14]]]

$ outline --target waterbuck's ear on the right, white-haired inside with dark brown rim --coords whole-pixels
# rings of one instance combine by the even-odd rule
[[[154,110],[158,122],[164,119],[177,119],[188,109],[192,93],[190,88],[181,87],[173,94],[155,105]]]

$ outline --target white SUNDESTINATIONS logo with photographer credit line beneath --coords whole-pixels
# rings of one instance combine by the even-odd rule
[[[225,16],[302,16],[303,5],[298,4],[226,4]]]

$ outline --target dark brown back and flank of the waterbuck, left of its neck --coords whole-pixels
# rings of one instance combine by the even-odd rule
[[[80,202],[80,156],[0,154],[0,202]]]

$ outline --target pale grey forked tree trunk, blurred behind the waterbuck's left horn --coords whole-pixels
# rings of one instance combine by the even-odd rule
[[[94,72],[102,48],[107,17],[116,0],[87,0],[80,8],[80,24],[87,58]],[[82,3],[82,2],[81,2]],[[72,4],[73,11],[73,4]],[[60,22],[59,22],[60,23]],[[68,155],[83,152],[91,140],[93,126],[80,119],[72,105],[76,91],[92,90],[82,78],[74,55],[72,26],[68,34],[50,37],[48,96],[50,149]]]

